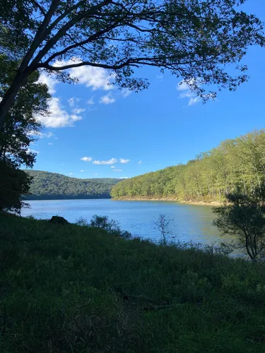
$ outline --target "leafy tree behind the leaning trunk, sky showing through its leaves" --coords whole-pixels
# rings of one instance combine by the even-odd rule
[[[2,55],[0,66],[0,97],[3,97],[13,80],[13,70],[16,70],[18,62]],[[34,136],[40,133],[41,124],[36,116],[48,114],[47,102],[50,98],[47,85],[38,82],[39,76],[35,71],[22,85],[0,131],[0,160],[8,160],[14,167],[21,164],[33,167],[35,162],[35,153],[30,152],[28,147],[35,140]]]

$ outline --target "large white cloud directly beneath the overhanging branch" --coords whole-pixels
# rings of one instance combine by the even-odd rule
[[[68,60],[58,61],[56,66],[64,66],[71,64],[78,64],[81,60]],[[114,75],[110,75],[104,68],[98,68],[93,66],[80,66],[78,68],[70,68],[69,74],[72,78],[77,78],[78,83],[86,85],[93,90],[113,90],[114,86],[111,85]]]

